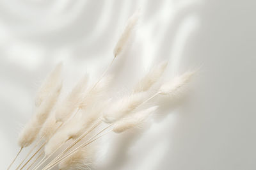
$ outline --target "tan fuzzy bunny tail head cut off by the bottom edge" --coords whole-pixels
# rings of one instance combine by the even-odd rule
[[[59,169],[91,169],[95,161],[97,143],[91,143],[90,147],[83,147],[62,160]]]

